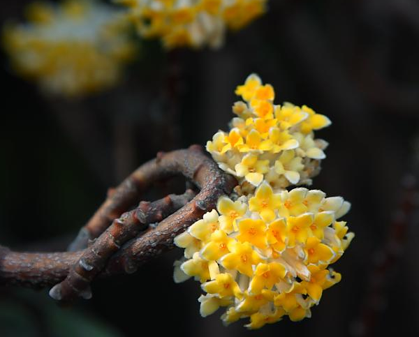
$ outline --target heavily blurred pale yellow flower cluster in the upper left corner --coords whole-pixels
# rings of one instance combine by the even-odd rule
[[[27,24],[9,24],[6,51],[18,73],[45,91],[79,96],[115,84],[133,58],[121,13],[94,1],[34,3]]]

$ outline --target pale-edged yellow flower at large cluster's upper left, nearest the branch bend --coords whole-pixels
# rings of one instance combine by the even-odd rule
[[[228,197],[220,197],[216,204],[216,209],[219,211],[219,214],[221,214],[221,216],[219,216],[221,230],[230,234],[237,227],[237,218],[240,218],[240,216],[243,216],[246,213],[247,204],[240,200],[233,202],[233,200]]]

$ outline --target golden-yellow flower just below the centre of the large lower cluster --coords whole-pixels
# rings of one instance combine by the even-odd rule
[[[275,283],[286,276],[286,268],[278,262],[260,263],[256,267],[255,276],[251,279],[249,291],[259,294],[263,288],[271,290]]]

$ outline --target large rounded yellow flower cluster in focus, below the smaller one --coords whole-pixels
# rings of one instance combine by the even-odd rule
[[[255,195],[221,197],[217,209],[175,238],[185,248],[175,263],[175,281],[202,283],[200,313],[219,307],[226,324],[250,317],[257,329],[288,315],[310,317],[323,290],[341,275],[328,266],[353,239],[344,216],[350,204],[321,190],[294,188],[274,193],[263,182]]]

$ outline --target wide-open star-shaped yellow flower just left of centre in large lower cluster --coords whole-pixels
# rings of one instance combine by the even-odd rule
[[[221,265],[226,269],[237,270],[240,273],[252,276],[252,265],[258,264],[261,259],[249,242],[233,242],[228,246],[231,253],[221,257]]]

